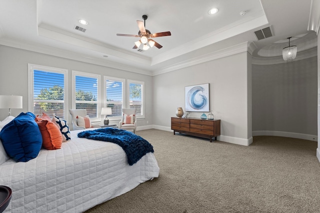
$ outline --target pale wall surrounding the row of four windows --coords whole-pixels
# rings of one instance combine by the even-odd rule
[[[139,120],[137,125],[145,126],[147,125],[147,121],[149,124],[152,123],[151,76],[0,45],[0,95],[23,96],[23,109],[12,109],[12,116],[17,116],[20,112],[26,112],[28,110],[28,63],[68,69],[69,107],[71,107],[72,101],[71,70],[100,74],[102,80],[102,76],[106,75],[144,81],[145,119]],[[100,84],[100,89],[101,91],[103,90],[102,83]],[[0,109],[0,120],[3,120],[6,117],[7,112],[8,109]],[[68,113],[67,116],[67,120],[70,124],[71,116]]]

